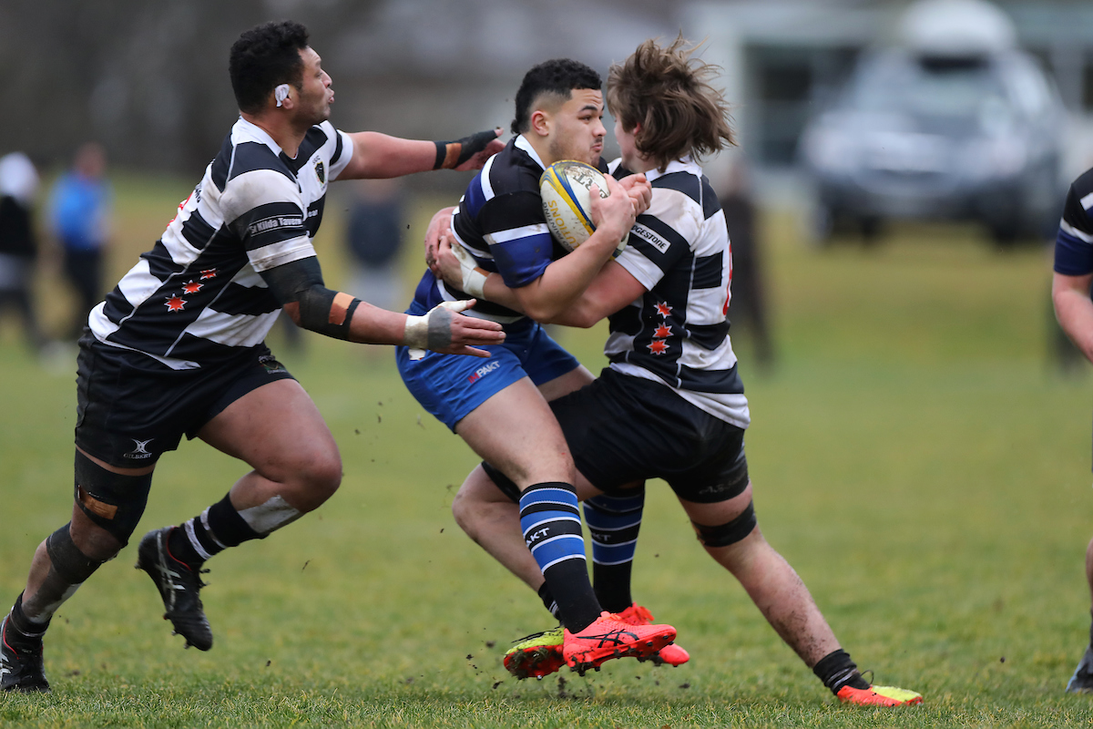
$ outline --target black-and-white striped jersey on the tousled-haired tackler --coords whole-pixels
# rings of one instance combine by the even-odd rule
[[[659,380],[712,415],[748,427],[748,400],[726,318],[732,254],[725,213],[702,168],[689,158],[645,175],[651,204],[615,260],[647,291],[611,315],[603,353],[612,369]]]

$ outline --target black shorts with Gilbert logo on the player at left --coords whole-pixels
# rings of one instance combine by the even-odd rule
[[[262,385],[294,379],[265,344],[199,369],[172,369],[91,333],[77,358],[75,445],[119,468],[154,463],[230,404]]]

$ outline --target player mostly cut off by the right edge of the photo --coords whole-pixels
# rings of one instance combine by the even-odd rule
[[[1086,169],[1067,193],[1055,239],[1051,301],[1062,330],[1093,362],[1093,169]],[[1093,541],[1085,548],[1085,580],[1093,597]],[[1072,693],[1093,693],[1093,627],[1090,643],[1067,683]]]

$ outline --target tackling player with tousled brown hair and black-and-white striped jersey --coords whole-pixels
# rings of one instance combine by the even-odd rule
[[[610,366],[592,385],[550,403],[577,467],[577,493],[606,494],[634,510],[644,481],[663,479],[707,553],[838,698],[919,703],[915,692],[862,678],[804,584],[759,529],[743,446],[750,412],[726,318],[731,251],[724,212],[697,164],[731,144],[732,132],[724,97],[710,85],[716,69],[692,51],[682,38],[667,47],[647,40],[608,77],[622,152],[612,169],[644,173],[653,196],[622,255],[607,261],[572,306],[546,319],[577,327],[610,321]],[[458,242],[442,247],[446,280],[466,274],[469,263],[454,255],[458,250]],[[505,284],[490,274],[484,297],[518,308]],[[520,549],[516,493],[503,469],[486,462],[462,484],[453,510],[471,538],[542,589]],[[636,539],[636,529],[631,536]],[[544,675],[560,667],[557,645],[556,630],[532,636],[509,651],[506,666],[518,675]]]

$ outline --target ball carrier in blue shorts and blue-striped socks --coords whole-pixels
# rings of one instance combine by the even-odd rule
[[[596,232],[568,256],[557,255],[539,177],[561,160],[599,165],[602,115],[600,77],[587,66],[556,59],[528,71],[516,94],[515,137],[471,181],[446,222],[473,257],[468,278],[448,285],[426,271],[409,309],[421,315],[442,302],[471,298],[475,281],[494,272],[517,303],[479,302],[472,310],[504,324],[507,339],[484,348],[485,364],[437,353],[415,360],[409,348],[397,350],[399,372],[418,401],[516,484],[527,540],[519,540],[520,548],[557,603],[561,658],[580,671],[610,658],[653,655],[675,636],[670,625],[635,626],[611,616],[592,591],[574,465],[546,404],[592,376],[522,314],[550,319],[568,307],[648,204],[643,177],[608,177],[610,197],[591,196]]]

